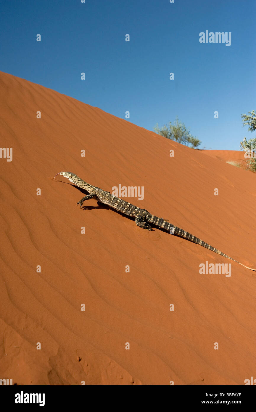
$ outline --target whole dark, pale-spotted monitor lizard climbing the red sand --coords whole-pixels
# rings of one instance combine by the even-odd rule
[[[197,243],[198,245],[203,246],[204,248],[212,250],[212,252],[218,253],[218,255],[224,256],[224,258],[233,260],[234,262],[239,263],[239,265],[242,265],[247,269],[254,270],[256,272],[256,269],[252,269],[251,267],[245,266],[242,263],[237,262],[237,260],[230,258],[230,256],[225,255],[225,253],[222,253],[220,250],[208,245],[208,243],[205,243],[193,234],[186,232],[185,230],[180,229],[175,225],[172,225],[172,223],[169,223],[167,220],[163,218],[158,218],[157,216],[151,215],[151,213],[149,213],[146,209],[141,209],[138,206],[135,206],[123,199],[120,199],[119,197],[113,196],[110,192],[106,192],[105,190],[102,190],[99,187],[90,185],[89,183],[80,179],[74,173],[60,172],[57,173],[56,176],[58,174],[64,176],[65,178],[70,180],[71,183],[78,187],[81,187],[81,189],[84,189],[89,193],[87,194],[87,196],[83,197],[83,199],[77,202],[77,205],[80,205],[80,207],[83,205],[85,200],[92,199],[93,197],[95,197],[97,201],[100,201],[101,203],[104,203],[109,207],[134,218],[136,225],[142,227],[142,229],[152,230],[151,226],[149,225],[149,223],[151,223],[152,225],[155,225],[160,229],[165,230],[166,232],[170,232],[171,234],[187,239],[193,243]],[[56,176],[54,176],[54,179],[56,178]]]

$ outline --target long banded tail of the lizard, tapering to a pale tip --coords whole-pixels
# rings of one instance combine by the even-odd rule
[[[219,249],[214,248],[213,246],[209,245],[208,243],[204,242],[202,239],[199,239],[198,237],[194,236],[193,234],[186,232],[183,229],[180,229],[179,227],[172,225],[172,223],[168,222],[165,219],[158,218],[157,216],[152,216],[151,219],[149,220],[150,223],[153,223],[153,225],[156,225],[160,227],[160,229],[165,230],[166,232],[170,232],[171,234],[174,234],[175,236],[183,237],[184,239],[187,239],[193,243],[196,243],[200,246],[203,246],[204,248],[208,250],[212,250],[212,252],[217,253],[218,255],[223,256],[224,258],[233,260],[233,262],[239,263],[239,265],[242,265],[246,267],[247,269],[254,270],[256,272],[256,269],[253,269],[251,267],[245,266],[242,263],[238,262],[237,260],[230,258],[230,256],[225,255],[225,253],[221,252]]]

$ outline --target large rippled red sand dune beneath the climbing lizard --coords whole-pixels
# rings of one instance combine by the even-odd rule
[[[256,272],[233,262],[230,277],[199,274],[200,263],[231,261],[143,230],[94,199],[80,209],[84,193],[53,180],[71,171],[104,190],[144,186],[144,200],[127,200],[256,268],[255,174],[6,73],[0,96],[1,147],[13,148],[12,162],[0,159],[0,378],[244,385],[255,377]]]

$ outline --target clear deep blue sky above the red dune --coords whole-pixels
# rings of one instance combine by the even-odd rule
[[[240,115],[256,109],[255,0],[9,0],[0,9],[1,71],[123,119],[129,110],[127,121],[149,130],[178,116],[200,148],[239,150],[254,137]],[[231,32],[231,45],[200,43],[206,30]]]

